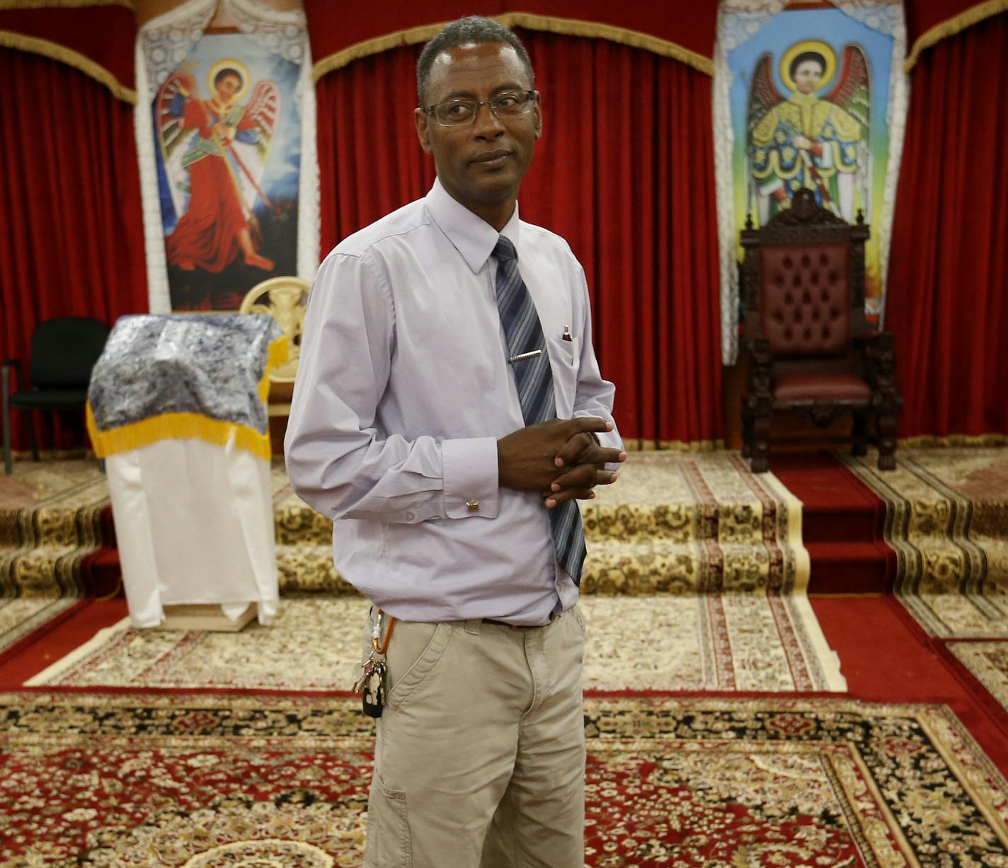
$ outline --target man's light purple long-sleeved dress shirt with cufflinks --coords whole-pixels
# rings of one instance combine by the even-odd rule
[[[501,235],[542,323],[557,416],[612,420],[571,248],[517,206]],[[403,620],[542,624],[578,599],[543,497],[498,486],[497,440],[524,421],[497,310],[497,239],[435,181],[341,242],[311,289],[287,472],[335,520],[340,575]],[[615,428],[599,438],[622,448]]]

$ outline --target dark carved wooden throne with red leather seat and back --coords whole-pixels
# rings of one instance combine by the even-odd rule
[[[743,455],[754,472],[768,466],[770,417],[791,412],[818,428],[852,414],[855,455],[878,445],[879,468],[895,466],[892,335],[865,321],[865,241],[854,226],[800,190],[764,228],[748,221],[742,297],[750,351],[742,405]]]

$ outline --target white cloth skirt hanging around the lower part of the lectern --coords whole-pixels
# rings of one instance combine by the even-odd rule
[[[276,614],[279,588],[269,462],[233,443],[160,440],[106,459],[123,586],[134,626],[165,605],[256,603]]]

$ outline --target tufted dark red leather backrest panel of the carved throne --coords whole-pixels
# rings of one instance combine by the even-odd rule
[[[760,325],[776,356],[843,355],[850,345],[849,246],[760,250]]]

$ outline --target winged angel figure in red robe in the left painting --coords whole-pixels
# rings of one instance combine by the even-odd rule
[[[248,68],[236,58],[215,63],[208,77],[214,96],[196,96],[192,66],[168,77],[157,97],[158,142],[175,212],[165,238],[169,265],[217,274],[242,254],[246,265],[273,270],[258,251],[257,198],[272,203],[259,187],[279,115],[280,94],[260,82],[247,107]],[[187,205],[183,204],[188,193]]]

